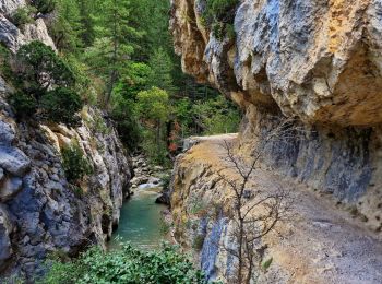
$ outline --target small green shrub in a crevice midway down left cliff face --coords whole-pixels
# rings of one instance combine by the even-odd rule
[[[91,175],[93,168],[75,141],[71,146],[62,149],[62,165],[69,182],[75,184],[84,176]]]

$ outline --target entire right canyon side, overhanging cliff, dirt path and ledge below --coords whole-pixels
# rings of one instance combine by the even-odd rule
[[[223,8],[234,9],[232,22],[208,26],[217,2],[174,0],[170,28],[184,72],[244,109],[237,153],[250,159],[288,117],[301,132],[271,141],[252,178],[252,191],[280,184],[296,200],[295,217],[259,241],[253,283],[379,283],[381,2],[232,2]],[[192,248],[202,238],[202,268],[225,282],[237,267],[226,249],[236,204],[220,175],[226,140],[202,139],[180,156],[170,191],[178,240]],[[223,215],[201,217],[195,200],[223,204]]]

